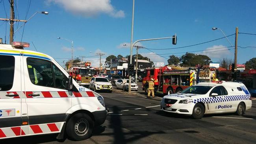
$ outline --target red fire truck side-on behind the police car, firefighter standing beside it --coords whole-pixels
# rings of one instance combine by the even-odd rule
[[[194,85],[196,71],[191,69],[173,70],[169,66],[150,68],[142,81],[142,89],[148,92],[148,81],[154,79],[155,91],[172,94]]]

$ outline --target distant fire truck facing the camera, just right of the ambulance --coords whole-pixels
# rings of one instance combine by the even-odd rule
[[[95,69],[91,67],[91,62],[78,62],[72,64],[70,76],[72,76],[79,85],[87,87],[90,79],[94,75]]]

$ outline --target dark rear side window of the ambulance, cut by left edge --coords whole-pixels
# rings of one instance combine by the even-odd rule
[[[0,91],[13,87],[15,59],[10,55],[0,55]]]

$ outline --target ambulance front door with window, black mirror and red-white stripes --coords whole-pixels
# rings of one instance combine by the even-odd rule
[[[71,107],[68,74],[47,58],[23,57],[30,134],[60,131]]]

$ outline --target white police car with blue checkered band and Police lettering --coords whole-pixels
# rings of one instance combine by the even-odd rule
[[[198,83],[161,100],[162,111],[189,114],[196,119],[214,113],[243,115],[251,107],[251,96],[243,83],[224,81]]]

